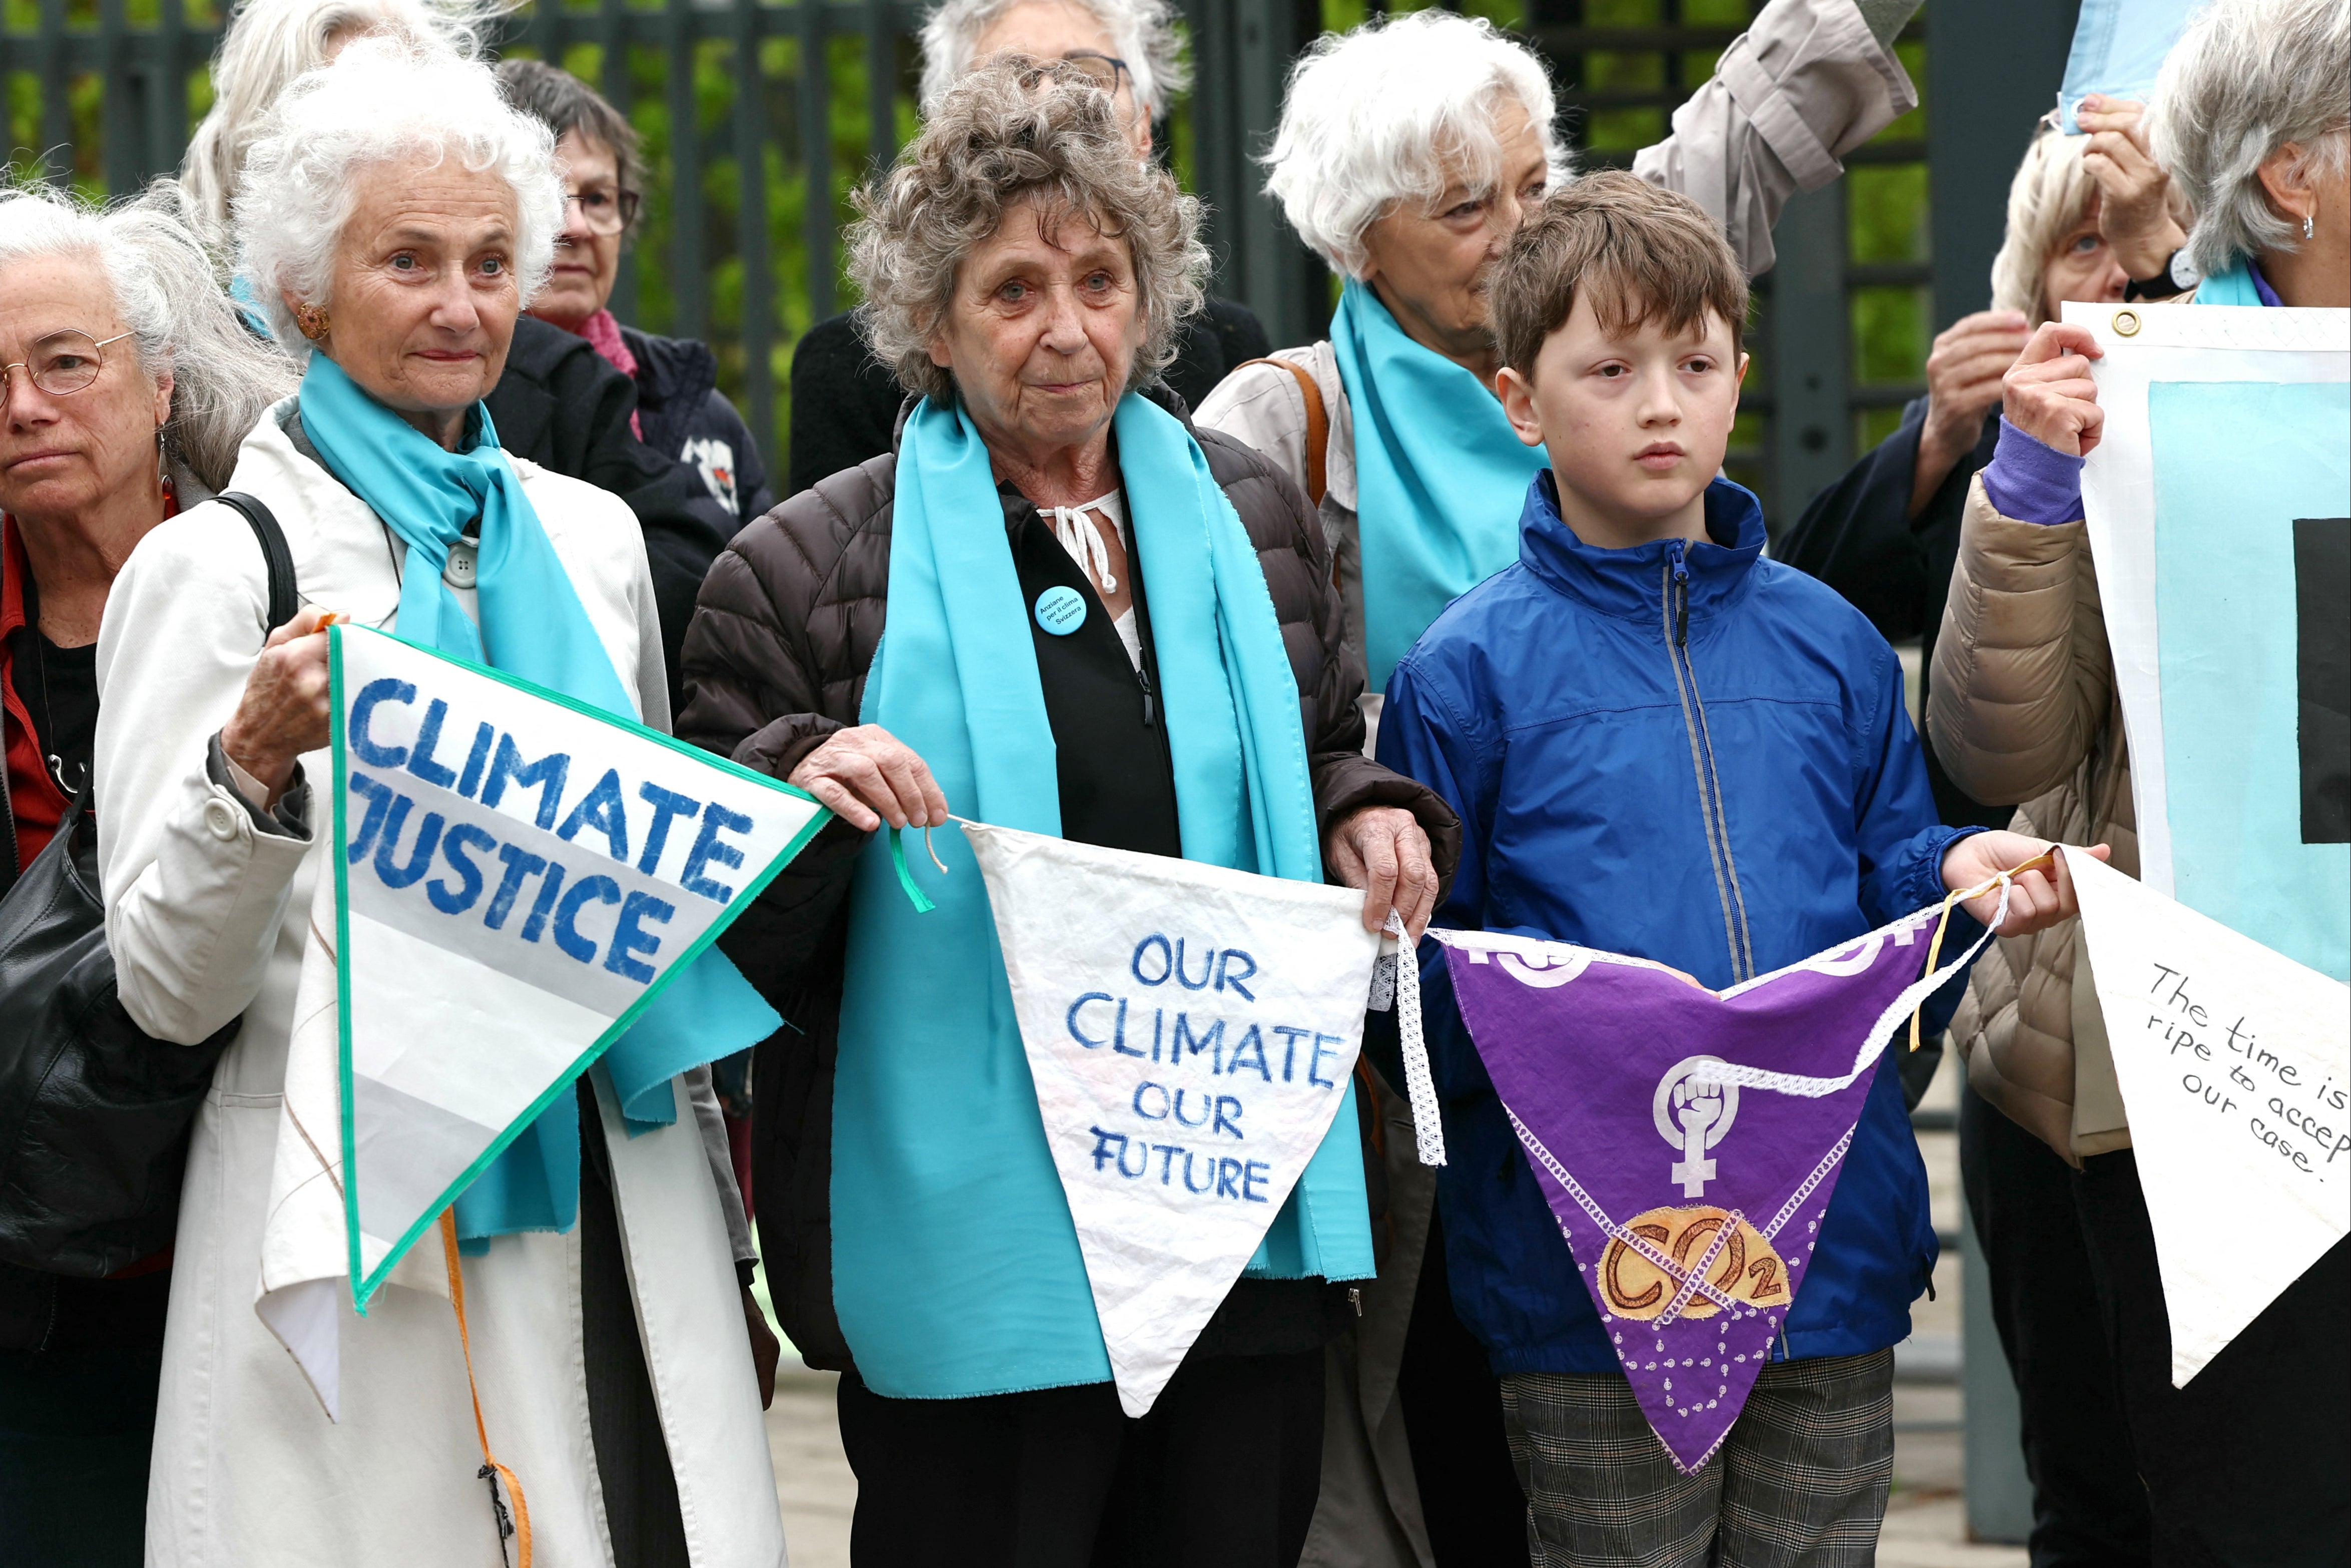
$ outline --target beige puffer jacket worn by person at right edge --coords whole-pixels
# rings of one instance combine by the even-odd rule
[[[2015,830],[2111,844],[2139,875],[2130,750],[2088,524],[2003,517],[1977,475],[1935,639],[1928,736],[1961,790],[2017,806]],[[2130,1147],[2078,922],[2008,938],[1951,1020],[1968,1084],[2069,1164]],[[2078,969],[2076,969],[2078,966]],[[2078,992],[2078,994],[2076,994]]]

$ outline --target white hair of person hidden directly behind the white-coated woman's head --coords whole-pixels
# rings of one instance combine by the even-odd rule
[[[205,247],[228,259],[228,205],[237,174],[268,110],[294,78],[327,63],[327,45],[346,33],[393,33],[437,40],[473,59],[484,28],[513,0],[242,0],[212,59],[212,110],[188,139],[179,183]]]

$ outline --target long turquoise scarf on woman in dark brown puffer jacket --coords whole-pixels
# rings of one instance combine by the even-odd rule
[[[1119,477],[1152,595],[1187,860],[1321,882],[1298,686],[1255,548],[1208,461],[1128,395]],[[929,764],[947,804],[1060,832],[1053,729],[987,447],[924,402],[898,447],[889,632],[863,719]],[[832,1088],[832,1302],[858,1375],[896,1399],[1110,1382],[1086,1265],[1044,1143],[971,846],[915,914],[886,835],[858,858]],[[1251,1260],[1260,1276],[1373,1272],[1354,1091]]]

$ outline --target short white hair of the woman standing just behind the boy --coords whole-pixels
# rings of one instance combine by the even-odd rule
[[[1324,33],[1291,68],[1265,193],[1331,270],[1361,277],[1364,230],[1389,209],[1429,207],[1462,176],[1502,179],[1493,120],[1509,101],[1542,136],[1552,183],[1566,181],[1552,78],[1483,16],[1432,7]]]

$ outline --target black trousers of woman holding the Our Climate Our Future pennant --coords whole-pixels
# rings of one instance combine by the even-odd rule
[[[1293,1568],[1324,1352],[1192,1356],[1150,1415],[1107,1382],[886,1399],[842,1373],[856,1568]]]

